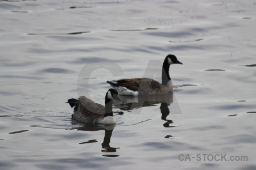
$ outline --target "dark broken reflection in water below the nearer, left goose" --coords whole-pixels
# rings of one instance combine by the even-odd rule
[[[105,130],[105,136],[104,136],[104,141],[102,142],[101,146],[104,148],[102,152],[116,152],[119,147],[110,147],[110,138],[112,136],[112,132],[114,130],[114,125],[108,125],[108,126],[83,126],[78,128],[77,130],[82,130],[82,131],[100,131],[100,130]],[[89,140],[87,142],[82,142],[80,144],[85,144],[85,143],[94,143],[97,142],[97,140]],[[106,157],[116,157],[119,155],[103,155]]]

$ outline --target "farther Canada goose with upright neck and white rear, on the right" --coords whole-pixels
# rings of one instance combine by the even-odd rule
[[[133,79],[119,79],[107,81],[120,95],[155,95],[167,94],[173,90],[172,80],[169,75],[169,68],[171,64],[183,64],[177,60],[176,56],[169,54],[163,62],[162,69],[162,84],[153,79],[148,78],[133,78]]]

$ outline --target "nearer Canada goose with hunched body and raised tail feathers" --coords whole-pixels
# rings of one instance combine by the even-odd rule
[[[101,104],[94,103],[94,101],[80,96],[77,99],[68,99],[69,105],[73,110],[72,118],[93,124],[115,124],[115,118],[112,112],[113,99],[122,101],[118,92],[113,88],[110,88],[106,92],[105,107]]]

